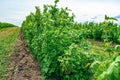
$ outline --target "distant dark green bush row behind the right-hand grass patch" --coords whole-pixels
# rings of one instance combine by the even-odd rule
[[[101,23],[86,22],[77,25],[79,29],[84,29],[87,38],[95,40],[108,40],[120,44],[120,26],[104,21]]]

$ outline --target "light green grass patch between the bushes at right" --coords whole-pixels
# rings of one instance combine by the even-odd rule
[[[96,41],[96,40],[94,40],[94,39],[88,39],[87,40],[89,43],[90,43],[90,49],[89,49],[89,53],[92,53],[92,54],[97,54],[98,55],[98,57],[99,56],[102,56],[102,58],[104,58],[104,59],[110,59],[110,58],[112,58],[112,57],[114,57],[114,56],[116,56],[117,55],[117,51],[113,51],[112,53],[111,53],[111,56],[109,55],[109,52],[107,52],[106,51],[106,49],[105,49],[105,43],[104,42],[102,42],[102,41]],[[114,49],[114,47],[116,46],[117,44],[111,44],[111,48],[112,49]]]

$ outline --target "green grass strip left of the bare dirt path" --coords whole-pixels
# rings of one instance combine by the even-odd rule
[[[7,75],[10,56],[14,53],[14,47],[18,40],[19,28],[3,28],[0,30],[0,80]]]

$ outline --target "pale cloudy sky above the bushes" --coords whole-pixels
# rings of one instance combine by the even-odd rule
[[[54,0],[0,0],[0,21],[20,26],[35,6],[43,9],[43,4],[54,4]],[[58,7],[71,9],[78,22],[103,21],[107,14],[120,23],[120,0],[60,0]]]

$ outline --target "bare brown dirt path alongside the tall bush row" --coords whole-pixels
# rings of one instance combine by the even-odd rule
[[[16,45],[12,63],[14,65],[12,80],[42,80],[39,63],[30,54],[22,34]]]

